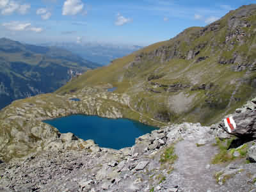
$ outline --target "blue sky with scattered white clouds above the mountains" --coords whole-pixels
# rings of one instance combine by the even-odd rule
[[[0,37],[29,44],[145,46],[252,3],[256,0],[0,0]]]

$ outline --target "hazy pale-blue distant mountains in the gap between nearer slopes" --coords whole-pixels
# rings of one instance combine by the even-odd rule
[[[116,58],[122,58],[127,54],[138,51],[139,45],[115,45],[97,43],[70,43],[70,42],[49,42],[40,44],[44,46],[55,46],[72,51],[86,60],[107,65]]]

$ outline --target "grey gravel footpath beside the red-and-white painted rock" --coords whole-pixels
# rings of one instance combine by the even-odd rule
[[[214,174],[223,165],[211,164],[212,157],[218,153],[218,148],[212,147],[214,138],[209,138],[206,145],[196,147],[199,136],[192,134],[175,145],[175,154],[179,159],[174,164],[172,179],[173,183],[182,186],[186,192],[213,192],[220,188]]]

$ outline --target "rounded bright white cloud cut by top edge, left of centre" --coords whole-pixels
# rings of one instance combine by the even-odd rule
[[[63,4],[62,15],[77,15],[84,8],[81,0],[66,0]]]

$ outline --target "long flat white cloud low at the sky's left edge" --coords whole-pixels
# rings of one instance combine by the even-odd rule
[[[36,33],[39,33],[43,31],[42,28],[35,28],[31,27],[31,23],[22,23],[19,21],[12,21],[12,22],[4,22],[2,24],[6,29],[10,31],[35,31]]]

